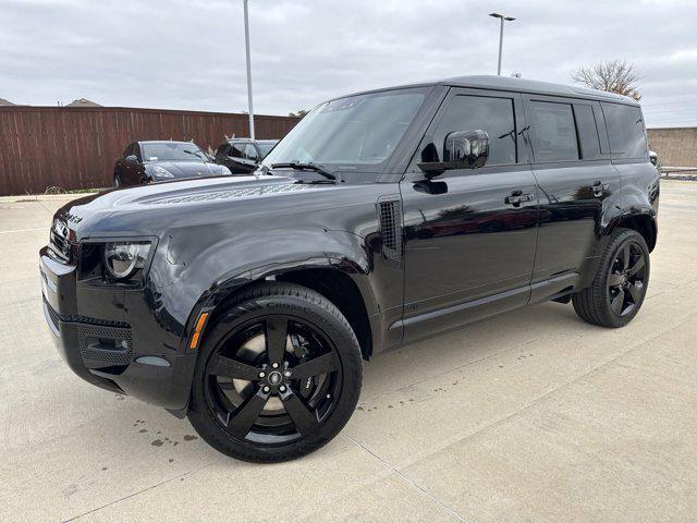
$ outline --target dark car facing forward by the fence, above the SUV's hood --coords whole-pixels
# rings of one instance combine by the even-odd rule
[[[230,174],[191,142],[134,142],[113,166],[113,186]]]

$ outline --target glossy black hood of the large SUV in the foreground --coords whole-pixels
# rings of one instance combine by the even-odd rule
[[[101,235],[160,235],[183,223],[230,222],[236,217],[280,214],[331,205],[319,193],[338,191],[334,184],[298,183],[276,175],[216,177],[171,181],[111,190],[63,206],[54,219],[64,221],[74,238]]]

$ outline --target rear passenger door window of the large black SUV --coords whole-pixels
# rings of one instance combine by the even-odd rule
[[[530,102],[535,161],[577,160],[578,138],[571,104]]]

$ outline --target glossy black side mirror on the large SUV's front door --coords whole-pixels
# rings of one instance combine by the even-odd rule
[[[432,144],[430,147],[431,156],[437,156]],[[478,169],[485,166],[488,157],[489,135],[485,131],[455,131],[443,141],[443,161],[425,161],[418,167],[427,178],[433,178],[453,169]]]

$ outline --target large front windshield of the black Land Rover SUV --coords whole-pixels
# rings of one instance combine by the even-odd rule
[[[329,101],[315,108],[264,159],[334,169],[379,168],[395,149],[427,89],[394,89]]]

